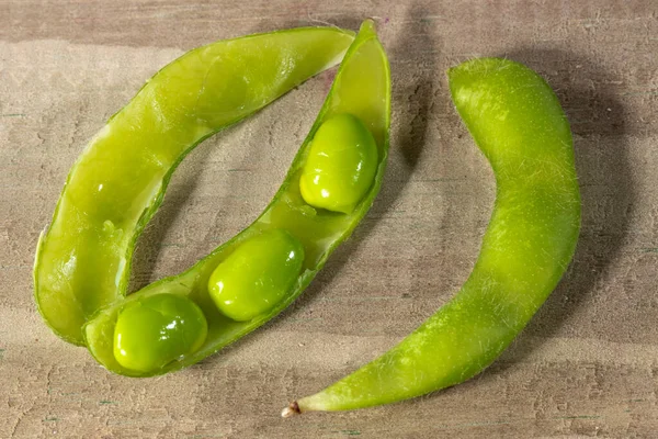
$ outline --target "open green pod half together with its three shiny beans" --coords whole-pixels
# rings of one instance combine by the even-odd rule
[[[322,128],[337,119],[352,133],[352,140],[345,139],[350,136],[336,139],[352,151],[347,155],[331,154],[334,148],[326,135],[332,130]],[[101,309],[83,328],[93,357],[120,374],[162,374],[206,358],[277,315],[302,293],[372,205],[386,167],[389,124],[388,60],[368,20],[348,49],[309,135],[265,211],[188,271]],[[309,169],[309,157],[325,153],[333,161],[316,161]],[[340,212],[314,205],[315,199],[306,201],[302,195],[305,173],[317,171],[336,187],[332,178],[360,176],[365,168],[374,171],[367,183],[359,184],[366,189],[356,203],[350,193],[329,193]],[[348,199],[344,203],[343,196]],[[166,306],[162,297],[171,296],[181,300]],[[145,335],[144,318],[151,319],[160,331]],[[170,342],[172,339],[175,341]]]

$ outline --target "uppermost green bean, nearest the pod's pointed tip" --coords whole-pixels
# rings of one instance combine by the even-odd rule
[[[314,207],[351,213],[363,199],[377,170],[377,144],[367,127],[351,114],[338,114],[318,128],[299,190]]]

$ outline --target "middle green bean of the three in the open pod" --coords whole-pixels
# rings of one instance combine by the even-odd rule
[[[291,293],[304,262],[304,246],[275,228],[240,245],[211,274],[211,297],[227,317],[246,322]]]

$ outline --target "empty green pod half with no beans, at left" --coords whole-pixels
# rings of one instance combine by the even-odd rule
[[[353,38],[306,27],[198,47],[114,114],[71,168],[36,250],[36,304],[55,334],[82,345],[89,317],[125,295],[135,241],[194,146],[337,65]]]

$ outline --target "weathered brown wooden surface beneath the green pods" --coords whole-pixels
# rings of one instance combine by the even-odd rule
[[[0,0],[0,438],[657,438],[658,3]],[[76,157],[185,50],[374,16],[393,75],[384,187],[291,308],[182,372],[109,373],[33,301],[39,232]],[[445,70],[507,56],[572,124],[582,233],[558,289],[478,378],[416,401],[281,419],[454,294],[495,181]],[[190,267],[266,205],[331,81],[324,74],[189,156],[138,243],[132,289]]]

